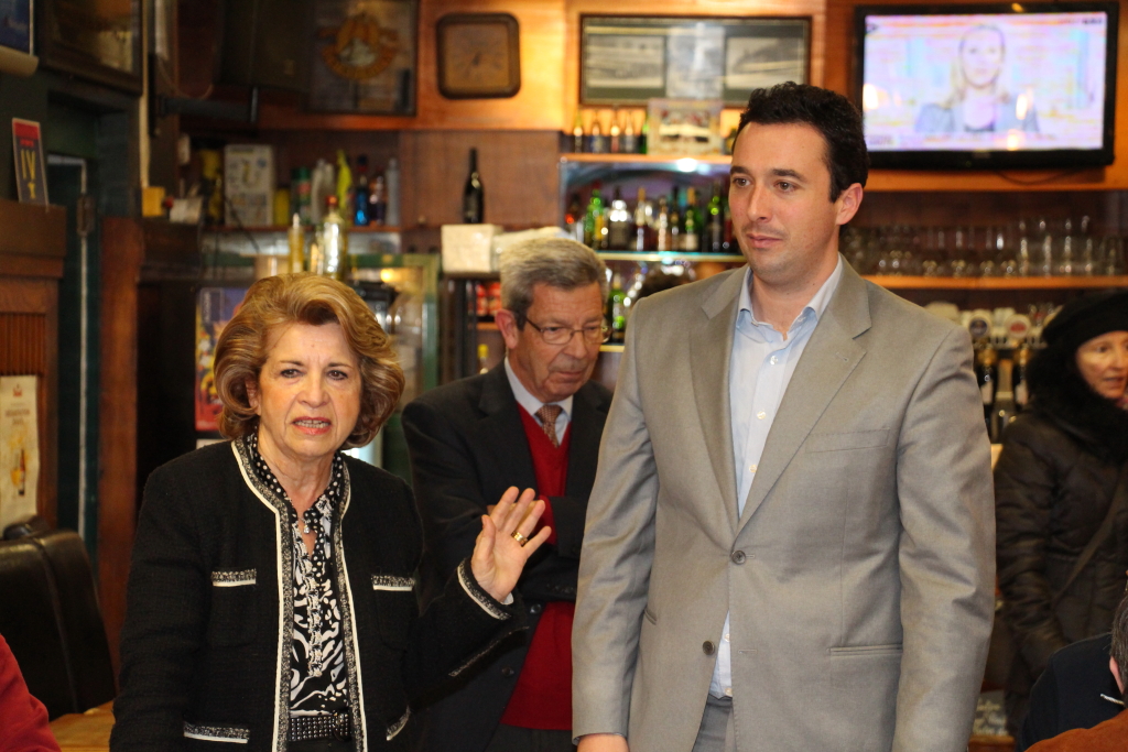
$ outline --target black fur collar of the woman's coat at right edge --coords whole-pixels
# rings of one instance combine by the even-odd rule
[[[1128,460],[1128,410],[1093,391],[1077,371],[1074,351],[1050,346],[1030,362],[1033,410],[1077,439],[1094,454]]]

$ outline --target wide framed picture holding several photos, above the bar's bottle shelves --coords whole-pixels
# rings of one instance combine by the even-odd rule
[[[619,17],[580,19],[580,104],[721,99],[807,83],[810,18]]]

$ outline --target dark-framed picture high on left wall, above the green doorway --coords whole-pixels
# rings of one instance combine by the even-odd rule
[[[141,94],[141,0],[39,0],[36,32],[45,68]]]

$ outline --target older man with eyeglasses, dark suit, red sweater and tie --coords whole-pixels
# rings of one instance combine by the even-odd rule
[[[530,628],[425,709],[428,752],[571,752],[572,618],[588,495],[611,395],[589,381],[607,340],[607,272],[587,246],[537,239],[505,251],[505,360],[404,409],[423,516],[424,600],[474,548],[487,505],[510,486],[545,499],[552,537],[517,590]]]

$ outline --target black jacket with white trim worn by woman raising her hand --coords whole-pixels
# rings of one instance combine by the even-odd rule
[[[421,617],[423,548],[406,484],[345,458],[333,523],[353,746],[412,749],[408,701],[520,627],[520,601],[482,591],[466,563]],[[149,478],[122,631],[114,752],[287,749],[292,527],[243,442]]]

